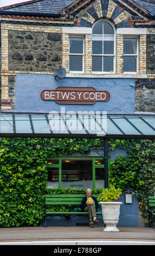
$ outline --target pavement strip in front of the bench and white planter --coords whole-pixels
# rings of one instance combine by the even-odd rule
[[[155,245],[155,228],[118,227],[119,232],[90,227],[0,228],[0,245]]]

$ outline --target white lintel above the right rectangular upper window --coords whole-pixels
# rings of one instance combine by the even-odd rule
[[[122,35],[144,35],[146,28],[118,28],[116,33]]]

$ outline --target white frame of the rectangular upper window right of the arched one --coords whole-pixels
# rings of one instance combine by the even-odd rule
[[[139,37],[137,35],[125,35],[124,39],[136,39],[137,40],[137,53],[135,54],[124,54],[123,53],[123,57],[124,56],[136,56],[136,71],[132,72],[132,71],[123,71],[123,74],[139,74]],[[124,44],[124,39],[123,39],[123,44]],[[124,64],[123,64],[124,65]],[[123,66],[124,68],[124,66]]]

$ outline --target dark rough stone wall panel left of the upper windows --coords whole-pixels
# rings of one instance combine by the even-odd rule
[[[9,31],[9,70],[55,72],[62,67],[62,35]]]

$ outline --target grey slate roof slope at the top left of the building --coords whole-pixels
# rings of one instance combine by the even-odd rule
[[[68,5],[72,4],[75,0],[40,0],[33,3],[14,5],[15,7],[8,7],[3,9],[3,12],[11,11],[11,13],[20,12],[24,13],[47,13],[47,14],[56,14],[59,13],[63,8],[66,8]],[[2,9],[0,9],[2,10]]]

